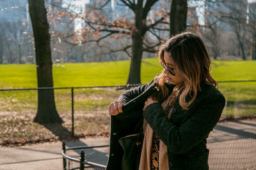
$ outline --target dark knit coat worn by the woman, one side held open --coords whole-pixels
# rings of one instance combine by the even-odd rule
[[[172,93],[174,85],[166,86]],[[107,170],[121,169],[124,152],[118,139],[137,133],[138,130],[134,128],[141,122],[142,117],[167,146],[169,169],[209,169],[206,139],[221,117],[225,97],[212,85],[201,85],[201,89],[189,110],[180,106],[178,98],[170,119],[160,103],[152,103],[143,111],[148,96],[157,92],[154,81],[124,92],[119,97],[125,104],[124,112],[111,116]]]

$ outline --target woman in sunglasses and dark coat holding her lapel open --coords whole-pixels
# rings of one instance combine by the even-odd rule
[[[134,133],[136,125],[142,126],[141,117],[144,140],[139,169],[209,169],[206,139],[221,117],[225,98],[210,75],[205,45],[196,34],[183,32],[168,39],[158,57],[163,73],[109,105],[107,169],[121,169],[123,152],[117,141]],[[126,105],[129,110],[123,112]]]

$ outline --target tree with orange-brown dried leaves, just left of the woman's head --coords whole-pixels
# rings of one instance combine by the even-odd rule
[[[104,7],[110,1],[106,1],[100,8]],[[168,1],[163,1],[168,6]],[[134,16],[131,20],[127,17],[117,18],[113,21],[106,20],[106,17],[102,13],[92,10],[92,12],[86,13],[84,21],[87,27],[84,29],[84,34],[88,35],[88,32],[92,32],[92,36],[95,39],[91,41],[101,41],[104,38],[110,37],[114,39],[131,38],[131,43],[122,48],[131,57],[131,66],[129,71],[129,77],[127,85],[141,83],[141,58],[143,52],[156,52],[157,46],[159,46],[164,38],[158,36],[159,31],[168,31],[168,27],[157,27],[158,24],[165,24],[168,17],[168,8],[166,6],[159,6],[159,10],[154,14],[156,20],[150,20],[148,16],[150,10],[153,8],[157,0],[147,1],[116,1],[117,6],[126,6]],[[99,8],[98,8],[99,9]],[[154,36],[156,43],[152,43],[145,39],[147,32],[150,32],[151,36]],[[83,33],[82,33],[83,34]],[[101,34],[104,34],[102,36]],[[86,39],[83,39],[86,41]],[[117,51],[117,50],[115,50]]]

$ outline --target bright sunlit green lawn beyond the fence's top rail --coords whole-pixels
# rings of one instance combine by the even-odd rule
[[[129,67],[129,60],[53,64],[54,87],[125,85]],[[217,81],[256,80],[256,61],[252,60],[214,60],[211,69]],[[152,80],[161,70],[157,59],[143,59],[141,83]],[[35,88],[36,82],[35,64],[0,66],[0,89]]]

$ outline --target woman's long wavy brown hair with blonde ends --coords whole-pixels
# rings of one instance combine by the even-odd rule
[[[184,110],[195,101],[198,91],[201,91],[200,85],[203,83],[218,87],[218,83],[210,74],[211,59],[207,53],[202,39],[192,32],[182,32],[172,36],[163,45],[160,46],[157,53],[159,61],[164,65],[164,52],[168,52],[175,71],[179,71],[180,76],[184,78],[182,83],[175,85],[171,94],[171,105],[173,106],[179,96],[179,104]],[[166,77],[164,71],[156,76],[154,81],[157,87],[161,89],[161,98],[166,99],[169,91],[164,83]]]

